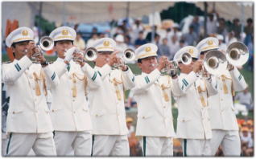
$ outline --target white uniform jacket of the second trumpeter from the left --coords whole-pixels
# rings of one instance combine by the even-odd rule
[[[52,106],[51,117],[56,131],[85,131],[92,130],[89,113],[89,102],[85,93],[87,87],[98,88],[101,78],[97,72],[85,63],[84,67],[71,61],[70,70],[64,59],[56,59],[52,69],[59,76],[60,84],[51,87]]]

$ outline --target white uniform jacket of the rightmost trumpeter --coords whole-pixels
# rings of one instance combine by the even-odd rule
[[[233,108],[233,93],[247,88],[244,77],[235,67],[217,78],[218,94],[209,97],[209,115],[212,129],[238,130]]]

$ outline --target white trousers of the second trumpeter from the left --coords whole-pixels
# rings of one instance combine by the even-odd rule
[[[70,156],[73,149],[75,156],[91,156],[92,134],[83,132],[55,131],[54,141],[57,156]]]

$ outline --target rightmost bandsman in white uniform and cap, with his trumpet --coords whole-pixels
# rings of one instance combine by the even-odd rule
[[[242,74],[237,70],[237,67],[233,65],[241,66],[246,63],[248,51],[246,52],[246,47],[242,47],[244,46],[242,43],[233,46],[233,48],[228,48],[226,52],[219,51],[220,54],[223,53],[227,57],[229,65],[220,70],[221,74],[215,75],[219,86],[217,88],[218,93],[214,96],[209,96],[208,99],[213,132],[211,139],[213,156],[220,145],[225,156],[240,156],[241,153],[241,141],[238,133],[237,118],[233,108],[233,96],[234,92],[246,89],[247,84]],[[210,54],[210,51],[219,49],[218,40],[213,37],[201,40],[196,47],[200,51],[200,59],[204,59],[205,55]],[[232,59],[231,50],[245,50],[246,54],[238,53],[240,54],[240,59]]]

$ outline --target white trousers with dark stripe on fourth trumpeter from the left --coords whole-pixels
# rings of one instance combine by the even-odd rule
[[[144,157],[173,156],[171,137],[143,137],[140,142]]]

